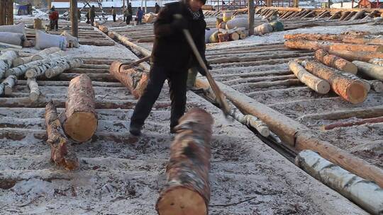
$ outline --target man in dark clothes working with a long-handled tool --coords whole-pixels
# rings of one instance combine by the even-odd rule
[[[202,75],[206,75],[194,57],[182,30],[188,29],[193,37],[201,57],[205,58],[205,28],[204,14],[201,7],[206,0],[182,0],[166,4],[158,13],[154,24],[155,42],[152,48],[152,66],[148,86],[135,105],[131,117],[130,132],[140,135],[145,119],[150,114],[155,100],[160,95],[165,80],[170,86],[172,110],[170,117],[170,132],[185,112],[187,93],[187,70],[196,67]],[[182,18],[174,18],[181,14]]]

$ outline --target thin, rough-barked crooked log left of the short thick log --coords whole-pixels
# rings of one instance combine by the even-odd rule
[[[62,166],[66,170],[79,168],[79,161],[76,154],[71,149],[65,136],[62,135],[62,127],[57,117],[57,110],[52,101],[45,107],[45,125],[47,127],[48,140],[50,145],[50,159],[56,165]]]

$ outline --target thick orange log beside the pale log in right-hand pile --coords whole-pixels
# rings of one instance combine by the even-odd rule
[[[358,104],[367,98],[367,89],[362,81],[350,79],[340,71],[312,60],[306,60],[302,64],[311,74],[328,81],[333,91],[348,102]]]

